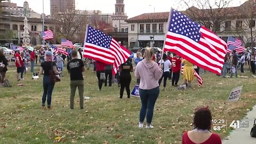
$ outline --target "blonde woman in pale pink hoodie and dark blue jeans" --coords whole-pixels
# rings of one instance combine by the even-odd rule
[[[138,63],[135,68],[135,77],[140,79],[139,93],[141,109],[139,117],[139,128],[143,127],[144,119],[147,115],[147,129],[152,129],[151,125],[154,106],[159,95],[158,81],[163,75],[162,66],[152,61],[154,52],[151,48],[146,48],[145,59]]]

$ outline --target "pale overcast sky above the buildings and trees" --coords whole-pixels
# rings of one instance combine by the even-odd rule
[[[238,6],[246,0],[233,0],[232,6]],[[25,0],[11,0],[18,6],[23,6]],[[27,0],[29,7],[38,13],[43,13],[43,0]],[[179,1],[175,0],[124,0],[125,12],[129,18],[143,13],[167,12],[171,7],[183,10],[186,6],[181,6]],[[76,0],[76,9],[79,10],[101,10],[102,13],[113,13],[115,11],[115,0]],[[153,6],[149,6],[153,5]],[[191,4],[193,5],[193,4]],[[50,0],[44,0],[44,12],[50,14]]]

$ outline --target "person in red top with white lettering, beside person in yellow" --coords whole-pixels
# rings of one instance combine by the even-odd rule
[[[181,59],[177,57],[175,53],[173,53],[172,58],[172,86],[178,86],[178,82],[180,79],[180,68],[181,68]]]

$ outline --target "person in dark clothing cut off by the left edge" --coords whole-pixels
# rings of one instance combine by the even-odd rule
[[[8,61],[5,58],[4,52],[0,50],[0,87],[4,85],[4,78],[7,71]]]

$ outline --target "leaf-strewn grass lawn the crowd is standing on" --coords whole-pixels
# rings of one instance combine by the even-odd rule
[[[36,67],[39,71],[39,67]],[[84,73],[85,109],[79,109],[78,91],[75,108],[69,109],[69,75],[65,74],[60,83],[55,84],[52,110],[42,110],[42,76],[25,81],[15,81],[15,68],[9,68],[6,77],[13,87],[0,88],[0,143],[181,143],[182,133],[193,129],[193,110],[202,105],[210,106],[213,119],[241,119],[256,103],[255,79],[221,78],[214,74],[202,75],[201,88],[195,80],[194,89],[177,90],[167,82],[167,91],[161,91],[155,106],[154,129],[139,129],[138,117],[140,99],[132,97],[119,99],[117,84],[98,91],[97,77],[92,70]],[[133,74],[132,74],[133,76]],[[17,86],[19,83],[23,86]],[[132,78],[131,89],[135,84]],[[180,83],[181,84],[181,81]],[[238,102],[227,103],[230,91],[242,86],[242,98]],[[161,87],[161,90],[163,88]],[[217,131],[222,138],[229,132],[225,125]]]

